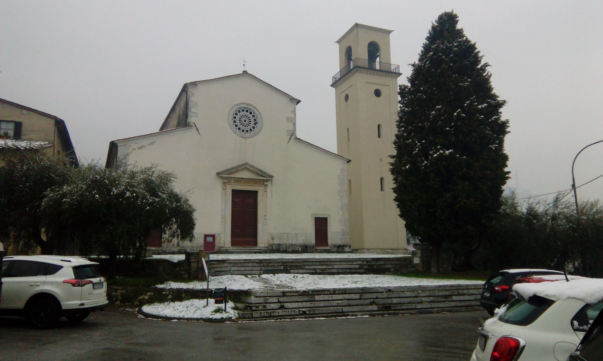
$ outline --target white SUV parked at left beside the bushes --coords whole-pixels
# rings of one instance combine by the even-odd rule
[[[25,316],[40,329],[55,326],[62,316],[82,321],[109,303],[98,264],[85,258],[7,256],[1,281],[0,315]]]

